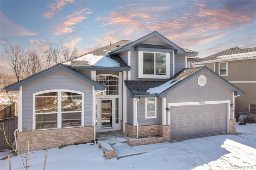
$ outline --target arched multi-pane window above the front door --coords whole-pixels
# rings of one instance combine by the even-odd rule
[[[96,81],[106,87],[106,95],[118,95],[118,77],[98,75]]]

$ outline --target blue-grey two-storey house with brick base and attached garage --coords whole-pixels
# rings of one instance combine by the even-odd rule
[[[95,141],[122,130],[161,142],[235,133],[244,92],[207,67],[186,68],[184,49],[158,32],[121,40],[7,86],[19,91],[18,150]]]

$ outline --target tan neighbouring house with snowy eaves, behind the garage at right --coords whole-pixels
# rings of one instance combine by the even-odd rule
[[[246,92],[236,98],[235,110],[256,114],[256,47],[234,47],[210,55],[195,63],[206,66]]]

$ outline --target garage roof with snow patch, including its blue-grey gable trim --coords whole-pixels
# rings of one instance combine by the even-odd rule
[[[183,83],[186,83],[194,77],[200,76],[202,72],[207,72],[212,78],[220,82],[222,86],[235,92],[235,95],[242,95],[244,92],[222,77],[218,76],[216,73],[212,72],[207,67],[195,67],[183,69],[174,77],[168,79],[167,81],[125,81],[125,85],[131,93],[131,97],[166,97],[167,93],[176,89]],[[193,90],[193,87],[198,85],[197,82],[194,82],[190,87],[190,90]]]

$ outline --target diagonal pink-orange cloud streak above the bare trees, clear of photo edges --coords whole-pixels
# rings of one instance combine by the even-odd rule
[[[56,31],[53,35],[62,35],[66,33],[70,33],[75,28],[74,25],[82,22],[82,20],[87,19],[85,15],[92,14],[89,8],[84,8],[78,12],[75,12],[74,14],[66,16],[66,21],[64,21],[62,24],[56,26]]]

